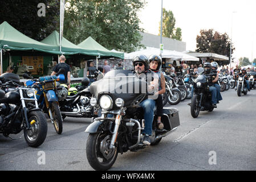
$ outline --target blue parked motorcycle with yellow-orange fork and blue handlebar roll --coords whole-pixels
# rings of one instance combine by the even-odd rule
[[[26,73],[23,74],[24,78],[31,79]],[[51,119],[52,124],[56,130],[56,133],[61,134],[63,130],[63,119],[59,108],[58,87],[56,81],[64,81],[64,75],[44,76],[38,79],[32,78],[26,82],[26,86],[35,89],[36,99],[39,103],[39,108],[47,113]],[[62,89],[62,88],[60,88]],[[62,92],[63,94],[63,92]],[[66,94],[67,96],[67,94]],[[63,97],[65,98],[65,97]]]

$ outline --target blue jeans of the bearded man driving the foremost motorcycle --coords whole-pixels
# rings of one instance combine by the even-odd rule
[[[144,134],[151,135],[152,134],[152,123],[154,118],[154,109],[156,107],[156,101],[147,99],[140,103],[140,106],[144,111],[144,119],[145,119],[145,128],[143,130]]]

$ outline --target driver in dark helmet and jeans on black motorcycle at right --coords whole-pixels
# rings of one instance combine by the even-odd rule
[[[209,63],[209,62],[206,62],[204,64],[204,72],[201,72],[199,75],[202,75],[202,74],[209,74],[212,72],[212,65]],[[198,75],[196,75],[197,77]],[[212,105],[214,108],[217,107],[217,89],[214,87],[214,82],[218,81],[216,78],[213,78],[213,76],[208,76],[208,85],[210,87],[210,92],[212,93]],[[213,82],[214,81],[214,82]],[[192,90],[191,90],[191,93],[192,93],[192,98],[193,98],[193,93],[194,93],[194,88],[192,87]],[[191,105],[191,102],[188,104],[188,105]]]

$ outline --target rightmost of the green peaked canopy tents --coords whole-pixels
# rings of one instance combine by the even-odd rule
[[[124,53],[120,52],[113,52],[109,51],[105,47],[101,46],[99,43],[97,43],[94,39],[89,36],[86,40],[84,40],[82,43],[77,45],[78,47],[81,47],[86,50],[91,50],[92,53],[96,56],[96,68],[97,68],[97,58],[100,57],[118,57],[121,59],[124,59]]]

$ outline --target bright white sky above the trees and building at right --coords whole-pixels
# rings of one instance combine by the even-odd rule
[[[139,12],[140,26],[144,32],[158,35],[161,0],[146,2]],[[173,12],[175,27],[182,30],[186,51],[195,51],[201,29],[213,28],[232,38],[235,59],[256,58],[256,0],[162,0],[162,7]]]

